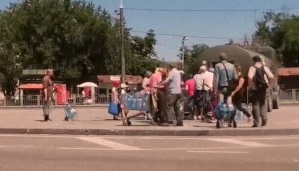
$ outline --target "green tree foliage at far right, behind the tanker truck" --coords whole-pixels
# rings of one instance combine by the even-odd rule
[[[299,16],[266,13],[253,35],[262,46],[271,46],[283,56],[285,67],[299,67]]]

